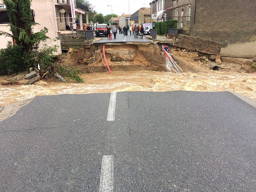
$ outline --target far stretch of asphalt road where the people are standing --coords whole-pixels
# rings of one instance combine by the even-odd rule
[[[114,34],[112,34],[112,39],[108,39],[108,37],[105,37],[104,39],[102,39],[100,41],[94,42],[93,44],[120,43],[120,42],[150,43],[151,41],[149,41],[145,36],[143,36],[142,39],[140,39],[140,36],[138,36],[138,38],[134,38],[134,35],[130,36],[130,31],[128,32],[128,36],[124,36],[124,34],[119,34],[119,32],[117,31],[116,39],[114,39]]]

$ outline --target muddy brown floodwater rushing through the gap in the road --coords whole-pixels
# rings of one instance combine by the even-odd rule
[[[84,74],[85,83],[36,82],[34,85],[0,86],[0,105],[41,95],[86,94],[121,91],[234,91],[256,100],[256,74],[234,72],[175,73],[114,71]],[[46,85],[45,85],[46,84]]]

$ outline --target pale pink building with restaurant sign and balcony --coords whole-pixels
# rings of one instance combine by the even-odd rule
[[[76,3],[76,1],[74,1],[75,18],[73,18],[74,15],[72,17],[70,0],[31,0],[30,2],[34,21],[36,23],[39,23],[39,25],[33,26],[33,31],[38,32],[44,27],[48,28],[49,32],[47,33],[47,36],[49,36],[50,39],[47,40],[46,43],[50,43],[50,45],[57,44],[59,46],[58,52],[56,54],[61,53],[60,40],[57,40],[56,42],[51,42],[51,39],[57,37],[58,33],[72,33],[66,30],[66,26],[71,26],[72,23],[75,22],[76,18],[79,18],[80,25],[78,27],[82,30],[85,23],[82,20],[82,14],[86,15],[86,23],[89,23],[88,8],[83,4],[80,4],[78,2]],[[8,26],[8,24],[10,23],[9,17],[2,0],[0,0],[0,18],[0,31],[11,33],[10,27]],[[6,48],[6,44],[8,41],[12,42],[12,38],[0,36],[0,48]]]

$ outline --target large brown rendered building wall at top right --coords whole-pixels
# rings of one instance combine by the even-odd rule
[[[255,0],[192,0],[190,35],[221,42],[221,55],[255,57],[255,7]]]

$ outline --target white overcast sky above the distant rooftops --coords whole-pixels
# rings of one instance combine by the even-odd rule
[[[121,15],[122,13],[128,14],[128,0],[89,0],[92,5],[95,5],[94,10],[97,13],[102,13],[103,15],[111,14],[111,7],[113,6],[113,14]],[[141,7],[150,7],[149,3],[151,0],[129,0],[130,3],[130,14],[136,12]]]

